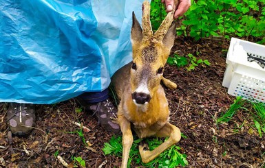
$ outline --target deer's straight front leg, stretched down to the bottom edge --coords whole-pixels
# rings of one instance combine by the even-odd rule
[[[118,123],[120,125],[121,132],[123,132],[123,160],[121,168],[127,168],[129,151],[134,138],[131,132],[131,123],[123,115],[118,116]]]

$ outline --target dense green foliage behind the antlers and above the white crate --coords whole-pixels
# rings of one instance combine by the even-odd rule
[[[264,0],[192,0],[191,7],[181,17],[178,36],[191,36],[195,40],[209,36],[224,38],[250,36],[265,43]],[[151,24],[158,29],[166,16],[160,0],[151,1]]]

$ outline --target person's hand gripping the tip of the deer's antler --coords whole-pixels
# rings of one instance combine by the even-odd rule
[[[174,0],[161,0],[161,2],[165,3],[167,12],[171,12],[171,10],[173,10],[173,6],[178,5],[177,10],[174,14],[174,18],[176,19],[179,16],[182,16],[184,12],[187,12],[189,7],[191,6],[191,0],[179,0],[178,4],[174,4]]]

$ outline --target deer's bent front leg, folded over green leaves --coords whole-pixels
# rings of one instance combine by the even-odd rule
[[[166,123],[165,126],[158,133],[156,133],[156,136],[157,137],[169,136],[169,139],[167,139],[167,141],[165,141],[164,143],[162,143],[152,151],[145,149],[144,145],[139,145],[139,152],[143,163],[149,163],[151,160],[153,160],[162,152],[164,152],[165,149],[171,147],[175,143],[178,143],[178,141],[180,141],[181,138],[180,129],[177,128],[175,125],[172,125],[171,123]]]

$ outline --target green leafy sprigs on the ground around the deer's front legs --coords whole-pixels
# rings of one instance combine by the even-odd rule
[[[178,165],[188,165],[188,162],[186,160],[185,154],[180,154],[178,150],[180,150],[180,147],[177,145],[173,145],[169,147],[165,152],[160,154],[157,158],[152,160],[150,163],[142,163],[142,160],[140,158],[140,153],[138,151],[138,143],[140,143],[142,139],[136,139],[134,140],[134,143],[132,144],[131,150],[129,152],[129,160],[128,165],[131,165],[131,162],[134,161],[136,164],[140,164],[145,167],[177,167]],[[146,143],[149,145],[149,149],[153,150],[158,145],[163,143],[162,139],[146,139]],[[110,139],[109,143],[105,143],[103,152],[105,154],[114,154],[115,156],[122,157],[123,152],[123,146],[122,146],[122,137],[118,136],[112,136],[112,139]]]

